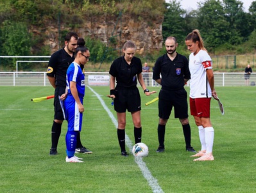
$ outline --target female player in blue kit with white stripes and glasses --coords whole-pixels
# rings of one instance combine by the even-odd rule
[[[67,69],[67,92],[61,97],[64,101],[65,118],[67,120],[67,134],[65,137],[67,146],[66,162],[83,162],[82,158],[74,155],[76,150],[76,136],[81,131],[83,120],[83,96],[85,95],[85,76],[81,65],[89,61],[90,52],[85,47],[83,38],[78,39],[78,47],[75,52],[76,58]]]

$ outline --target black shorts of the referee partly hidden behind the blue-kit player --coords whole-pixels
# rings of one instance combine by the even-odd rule
[[[54,100],[54,106],[55,106],[55,120],[64,120],[64,115],[62,112],[62,107],[60,106],[60,100],[58,99],[58,96],[62,96],[62,94],[65,93],[65,87],[64,86],[57,86],[55,89],[55,100]]]

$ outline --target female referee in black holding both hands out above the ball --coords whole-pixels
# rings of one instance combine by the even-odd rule
[[[134,125],[135,144],[141,143],[141,95],[137,88],[137,82],[141,84],[145,95],[149,96],[155,91],[149,92],[142,77],[141,59],[134,56],[136,45],[127,41],[123,45],[124,56],[115,59],[110,66],[110,95],[114,100],[114,109],[117,113],[117,139],[121,148],[121,155],[128,157],[125,148],[126,111],[132,115]],[[115,86],[116,81],[116,86]]]

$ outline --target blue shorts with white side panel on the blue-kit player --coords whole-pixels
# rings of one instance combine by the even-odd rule
[[[80,101],[83,102],[82,98]],[[68,95],[64,102],[65,118],[67,120],[68,131],[81,131],[81,123],[83,120],[83,113],[79,112],[78,104],[72,95]]]

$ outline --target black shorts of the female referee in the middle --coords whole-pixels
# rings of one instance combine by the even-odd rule
[[[141,95],[139,89],[122,88],[115,89],[114,109],[116,112],[141,111]]]

